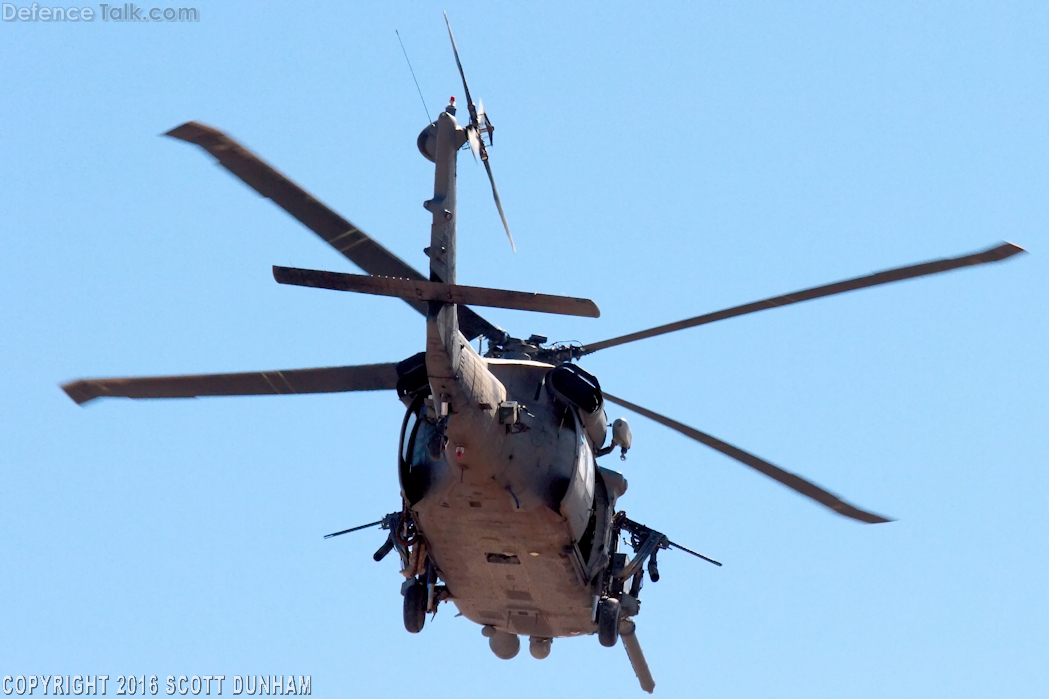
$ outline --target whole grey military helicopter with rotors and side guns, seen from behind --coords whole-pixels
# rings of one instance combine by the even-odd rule
[[[446,18],[447,20],[447,18]],[[451,38],[451,27],[448,29]],[[492,651],[514,657],[519,636],[530,638],[536,658],[550,654],[554,638],[597,633],[603,645],[622,638],[642,689],[655,687],[635,636],[639,592],[647,570],[659,579],[657,554],[677,548],[665,534],[617,510],[626,491],[618,472],[598,466],[615,449],[625,458],[630,430],[612,424],[605,402],[656,420],[834,510],[869,524],[889,522],[819,486],[710,435],[616,398],[574,363],[599,350],[865,287],[997,262],[1021,248],[989,250],[902,267],[806,289],[687,320],[584,345],[549,344],[547,338],[512,337],[469,305],[597,317],[593,301],[459,285],[455,277],[455,168],[469,145],[492,183],[508,237],[499,195],[488,162],[492,124],[474,104],[463,76],[469,123],[456,121],[455,101],[418,139],[434,163],[429,277],[425,277],[357,227],[216,129],[189,122],[167,135],[202,147],[262,196],[298,218],[368,275],[275,267],[280,283],[393,296],[426,317],[426,350],[399,363],[334,366],[248,374],[90,379],[68,383],[77,403],[100,397],[190,398],[265,394],[395,390],[407,406],[401,428],[399,469],[402,506],[378,522],[355,527],[389,531],[376,552],[401,556],[405,581],[404,622],[422,630],[426,614],[452,601],[481,624]],[[511,245],[513,238],[511,237]],[[471,340],[485,338],[484,355]],[[620,552],[625,538],[633,553]],[[700,556],[706,558],[705,556]],[[711,563],[715,563],[706,558]],[[718,564],[721,565],[721,564]]]

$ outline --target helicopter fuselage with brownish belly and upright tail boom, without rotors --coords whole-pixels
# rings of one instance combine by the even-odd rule
[[[424,205],[430,279],[455,283],[455,167],[467,134],[452,106],[433,127],[421,136],[432,140],[435,165]],[[579,416],[545,387],[554,366],[481,357],[459,332],[456,305],[437,302],[425,364],[429,395],[409,408],[402,485],[449,598],[512,634],[593,633],[591,581],[607,565],[614,497]]]

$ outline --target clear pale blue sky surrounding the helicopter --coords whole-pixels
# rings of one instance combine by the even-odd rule
[[[22,3],[18,3],[22,4]],[[146,5],[149,6],[148,4]],[[82,377],[398,361],[394,299],[197,148],[227,130],[418,268],[431,114],[459,96],[459,280],[596,341],[1010,240],[1031,254],[602,352],[616,395],[898,518],[863,526],[630,420],[661,558],[639,638],[664,697],[1049,691],[1049,8],[1031,3],[197,4],[188,24],[0,23],[0,675],[309,674],[325,697],[640,694],[621,648],[496,659],[402,627],[392,395],[102,401]],[[110,680],[110,694],[114,692]],[[227,694],[229,685],[227,684]]]

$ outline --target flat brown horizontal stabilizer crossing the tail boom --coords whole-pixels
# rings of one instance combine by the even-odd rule
[[[469,303],[515,311],[537,311],[556,313],[562,316],[584,316],[597,318],[601,315],[597,304],[586,298],[551,296],[528,292],[485,289],[481,287],[461,287],[438,281],[400,279],[341,272],[300,270],[292,267],[274,267],[273,277],[282,284],[314,287],[335,291],[393,296],[416,301],[438,301],[441,303]]]

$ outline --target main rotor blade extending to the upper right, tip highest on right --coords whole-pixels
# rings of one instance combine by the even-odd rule
[[[694,318],[688,318],[687,320],[679,320],[676,323],[667,323],[666,325],[659,325],[657,327],[651,327],[646,331],[630,333],[629,335],[622,335],[620,337],[614,337],[611,340],[604,340],[603,342],[595,342],[593,344],[587,344],[581,348],[580,356],[588,355],[591,353],[597,352],[598,350],[614,347],[618,344],[626,344],[627,342],[644,340],[645,338],[656,337],[657,335],[665,335],[666,333],[673,333],[676,331],[685,330],[686,327],[695,327],[697,325],[705,325],[707,323],[712,323],[716,320],[725,320],[726,318],[735,318],[736,316],[744,316],[747,315],[748,313],[756,313],[758,311],[765,311],[766,309],[774,309],[782,305],[790,305],[791,303],[809,301],[814,298],[822,298],[825,296],[843,294],[845,292],[856,291],[857,289],[865,289],[868,287],[878,287],[880,284],[887,284],[894,281],[914,279],[915,277],[924,277],[930,274],[940,274],[941,272],[949,272],[950,270],[958,270],[963,267],[986,264],[988,262],[999,262],[1003,259],[1007,259],[1022,252],[1026,251],[1023,248],[1012,245],[1011,242],[1003,242],[999,246],[996,246],[988,250],[984,250],[983,252],[973,253],[971,255],[963,255],[962,257],[947,257],[944,259],[933,260],[930,262],[922,262],[920,264],[900,267],[894,270],[886,270],[884,272],[876,272],[874,274],[869,274],[863,277],[856,277],[855,279],[837,281],[835,283],[825,284],[822,287],[813,287],[812,289],[804,289],[801,291],[793,292],[791,294],[784,294],[783,296],[773,296],[772,298],[767,298],[762,301],[754,301],[753,303],[745,303],[743,305],[736,305],[731,309],[725,309],[724,311],[718,311],[715,313],[708,313],[706,315],[695,316]]]

